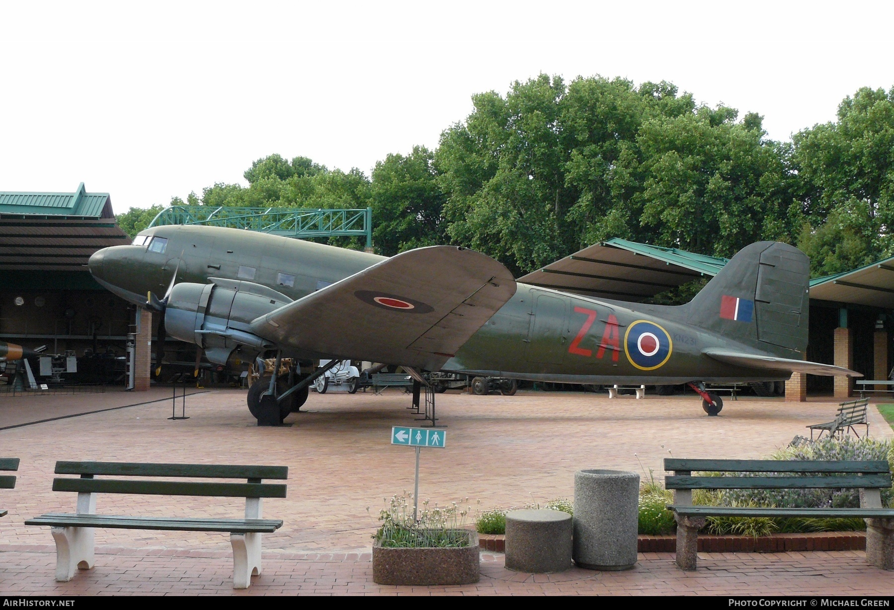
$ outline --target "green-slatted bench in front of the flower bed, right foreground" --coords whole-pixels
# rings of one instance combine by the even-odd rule
[[[860,517],[866,520],[866,560],[894,570],[894,508],[882,508],[881,489],[891,487],[888,462],[798,460],[665,459],[664,487],[674,490],[668,505],[677,520],[677,565],[695,570],[698,530],[706,517]],[[720,477],[693,476],[693,471],[722,472]],[[728,473],[755,473],[728,476]],[[785,508],[705,506],[692,504],[693,489],[859,489],[860,508]]]

